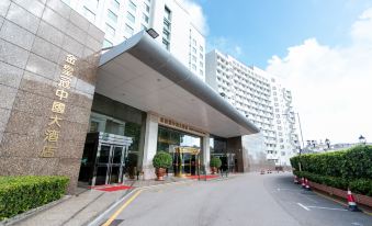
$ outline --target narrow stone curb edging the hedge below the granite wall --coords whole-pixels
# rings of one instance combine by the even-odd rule
[[[22,221],[27,219],[27,218],[30,218],[30,217],[38,214],[38,213],[42,213],[42,212],[44,212],[48,208],[52,208],[52,207],[71,199],[71,197],[72,197],[72,195],[65,195],[59,200],[53,201],[53,202],[47,203],[45,205],[38,206],[36,208],[32,208],[32,210],[24,212],[22,214],[18,214],[18,215],[15,215],[11,218],[3,219],[2,222],[0,222],[0,226],[8,226],[8,225],[13,225],[15,223],[22,222]]]

